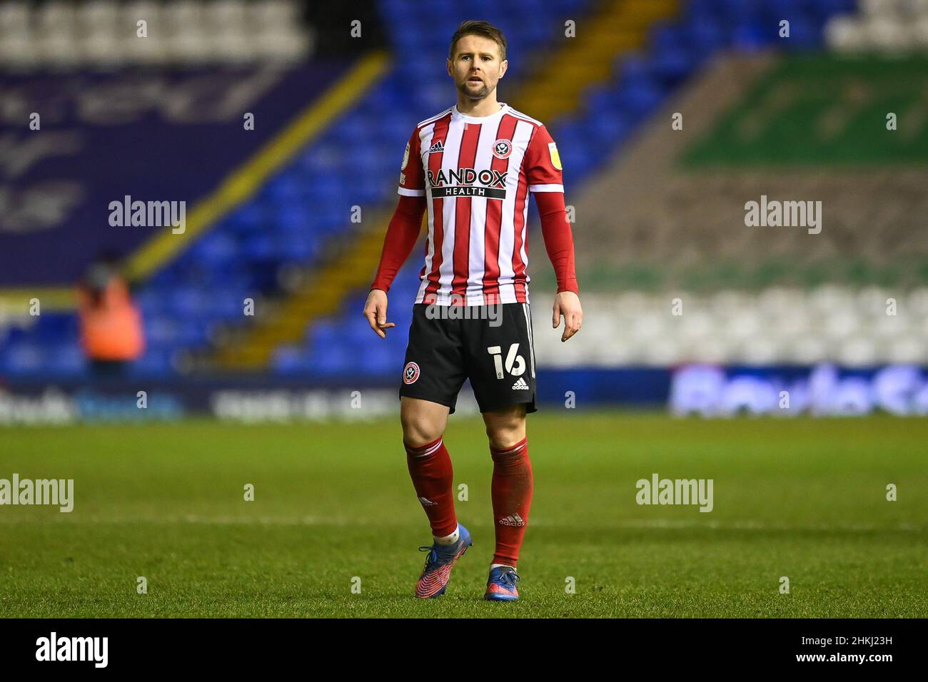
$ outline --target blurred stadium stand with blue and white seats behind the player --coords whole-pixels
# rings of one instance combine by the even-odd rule
[[[178,26],[185,16],[210,13],[202,25],[213,37],[226,35],[226,30],[234,35],[254,30],[264,36],[252,41],[248,33],[244,42],[252,45],[251,51],[238,51],[238,58],[305,59],[313,34],[293,32],[296,22],[283,5],[148,4]],[[176,49],[144,55],[122,50],[111,34],[103,36],[109,19],[99,17],[111,17],[117,10],[101,2],[81,10],[97,12],[99,20],[73,24],[86,27],[84,33],[75,30],[73,41],[82,45],[78,51],[83,57],[62,57],[71,54],[70,48],[54,45],[56,32],[47,26],[78,10],[62,8],[56,14],[49,5],[28,10],[16,6],[0,13],[0,35],[29,31],[49,36],[42,56],[20,55],[9,62],[19,71],[222,63],[228,58],[221,41],[203,40],[201,46],[209,49],[195,49],[180,30],[172,38]],[[144,281],[139,302],[149,344],[135,367],[139,375],[198,367],[270,367],[280,377],[373,377],[396,371],[406,346],[409,303],[418,286],[419,248],[391,290],[396,333],[387,341],[372,342],[376,340],[360,310],[395,200],[398,150],[416,121],[449,101],[442,65],[447,36],[457,25],[452,6],[445,0],[425,9],[401,0],[379,3],[393,41],[395,68],[297,149],[253,198]],[[575,209],[577,271],[589,320],[586,341],[562,345],[553,334],[537,334],[539,365],[820,359],[865,365],[928,359],[921,343],[928,330],[928,260],[924,243],[913,245],[907,237],[913,234],[912,221],[924,214],[925,178],[917,166],[925,161],[923,128],[900,129],[901,135],[909,135],[907,144],[890,153],[885,146],[867,148],[866,135],[856,136],[861,144],[848,146],[855,139],[853,128],[844,137],[832,135],[828,125],[811,133],[804,128],[801,135],[803,114],[794,111],[781,124],[793,126],[795,144],[778,146],[767,144],[770,122],[758,122],[751,108],[751,97],[764,94],[777,101],[800,77],[827,80],[835,70],[862,79],[864,92],[871,93],[874,84],[887,80],[879,60],[874,66],[873,59],[854,62],[836,55],[858,50],[871,55],[881,45],[895,49],[899,43],[886,38],[889,26],[906,32],[905,45],[924,45],[919,27],[928,20],[928,5],[520,0],[499,6],[481,0],[470,10],[508,34],[515,83],[509,84],[513,97],[502,94],[500,99],[548,122],[561,149],[567,201]],[[515,20],[526,13],[535,20]],[[552,79],[535,78],[541,70],[559,71],[546,67],[550,62],[545,57],[552,45],[563,43],[564,16],[599,18],[599,30],[618,20],[625,29],[620,35],[602,31],[613,35],[611,41],[597,43],[601,53],[565,48],[557,54],[553,63],[570,62],[586,76],[593,73],[579,86],[570,69]],[[788,39],[779,34],[783,18],[790,21]],[[286,40],[267,37],[285,32],[290,36]],[[99,45],[106,47],[91,49],[87,45],[98,35],[103,36]],[[266,49],[256,46],[263,44]],[[0,45],[13,49],[3,40]],[[602,71],[604,59],[608,68]],[[903,76],[922,78],[924,73],[918,57],[903,62],[902,68],[909,70]],[[516,86],[520,83],[521,88]],[[920,87],[923,91],[923,82],[909,78],[907,87],[902,101],[908,104]],[[539,102],[557,99],[553,95],[559,92],[568,103],[563,110],[538,114]],[[845,95],[859,97],[854,88]],[[867,100],[872,111],[882,105],[879,97]],[[677,110],[686,111],[683,130],[677,136],[658,135],[669,128]],[[732,122],[754,137],[740,145],[717,144],[719,126]],[[844,131],[841,123],[832,121],[831,127]],[[803,158],[809,144],[821,148]],[[759,148],[767,150],[767,157],[755,154]],[[857,156],[843,157],[848,149]],[[822,150],[828,153],[822,155]],[[889,164],[906,161],[906,154],[916,165],[891,172]],[[828,173],[820,173],[817,163],[827,165]],[[791,173],[771,172],[784,167]],[[807,237],[796,228],[747,227],[744,202],[761,195],[820,199],[826,225],[820,234]],[[873,202],[868,197],[894,200]],[[366,215],[360,225],[346,219],[354,206]],[[530,209],[533,220],[534,213]],[[540,326],[547,324],[553,277],[536,230],[530,240],[535,244],[531,295],[535,325]],[[241,302],[248,297],[263,303],[258,306],[263,314],[246,324]],[[685,301],[685,315],[677,319],[658,312],[675,298]],[[895,298],[906,315],[881,316],[888,298]],[[0,374],[84,372],[71,313],[44,314],[31,326],[34,320],[22,315],[7,313],[6,319],[6,332],[0,331]]]

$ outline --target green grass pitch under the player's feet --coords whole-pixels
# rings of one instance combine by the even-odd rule
[[[0,507],[0,616],[928,615],[926,419],[544,409],[517,603],[481,600],[483,422],[453,416],[445,438],[474,546],[421,601],[430,534],[398,419],[0,430],[0,479],[73,479],[75,497]],[[713,510],[639,506],[653,473],[713,479]]]

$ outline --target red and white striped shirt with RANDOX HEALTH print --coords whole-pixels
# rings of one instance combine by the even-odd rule
[[[564,191],[544,124],[507,104],[482,117],[445,109],[417,124],[397,191],[428,205],[417,303],[529,302],[528,193]]]

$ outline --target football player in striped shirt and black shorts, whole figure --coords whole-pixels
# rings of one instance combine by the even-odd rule
[[[464,21],[451,37],[447,71],[458,103],[416,125],[400,169],[400,195],[384,238],[364,315],[386,338],[387,291],[419,238],[428,211],[425,265],[403,379],[400,421],[406,463],[432,527],[416,597],[445,593],[455,562],[472,544],[455,515],[448,415],[470,379],[493,459],[496,549],[484,598],[519,598],[516,567],[532,503],[525,416],[535,412],[535,351],[529,307],[529,192],[557,275],[552,325],[561,341],[581,328],[574,238],[564,206],[561,159],[546,127],[496,101],[506,75],[506,38],[486,21]],[[467,315],[460,315],[467,306]],[[457,314],[455,314],[457,313]]]

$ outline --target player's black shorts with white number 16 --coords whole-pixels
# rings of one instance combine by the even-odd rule
[[[537,411],[528,303],[413,305],[400,395],[447,405],[454,414],[467,379],[481,412],[520,403]]]

